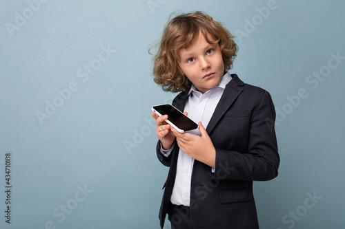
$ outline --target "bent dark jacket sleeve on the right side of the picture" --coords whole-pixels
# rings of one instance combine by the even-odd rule
[[[274,129],[275,108],[267,91],[261,101],[257,101],[257,108],[250,117],[248,135],[242,136],[245,140],[248,138],[248,149],[239,152],[215,147],[215,173],[208,171],[211,178],[264,181],[277,177],[279,155]]]

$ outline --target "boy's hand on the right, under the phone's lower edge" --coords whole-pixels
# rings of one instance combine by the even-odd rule
[[[182,151],[195,160],[215,168],[215,146],[213,146],[201,122],[198,124],[201,136],[192,133],[179,133],[174,128],[171,128],[171,131],[176,136],[177,144]]]

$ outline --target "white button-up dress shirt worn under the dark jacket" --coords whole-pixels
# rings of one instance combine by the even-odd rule
[[[193,85],[190,88],[188,100],[184,107],[184,111],[188,112],[188,117],[196,123],[201,121],[202,125],[206,129],[208,122],[210,122],[210,118],[213,116],[213,112],[223,95],[225,87],[231,79],[232,77],[227,72],[221,78],[219,85],[209,89],[204,94],[201,94],[201,92]],[[200,135],[199,129],[194,129],[188,132]],[[164,150],[161,147],[161,153],[168,157],[172,149]],[[170,197],[172,204],[190,206],[190,183],[192,179],[193,164],[194,158],[179,149],[175,184]],[[214,171],[215,168],[213,168],[213,172]]]

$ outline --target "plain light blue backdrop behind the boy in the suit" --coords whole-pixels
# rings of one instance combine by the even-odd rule
[[[150,107],[175,95],[148,47],[176,10],[237,34],[230,72],[275,102],[282,162],[255,182],[261,228],[345,227],[344,1],[1,0],[0,228],[159,228]]]

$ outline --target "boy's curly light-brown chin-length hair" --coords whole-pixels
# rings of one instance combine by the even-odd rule
[[[171,19],[164,28],[155,54],[153,74],[154,81],[161,85],[164,91],[178,92],[190,87],[192,83],[179,67],[179,50],[193,45],[199,36],[204,35],[210,44],[218,43],[224,62],[224,72],[233,67],[238,47],[233,41],[235,36],[219,22],[204,12],[180,14]],[[208,34],[214,39],[210,41]]]

